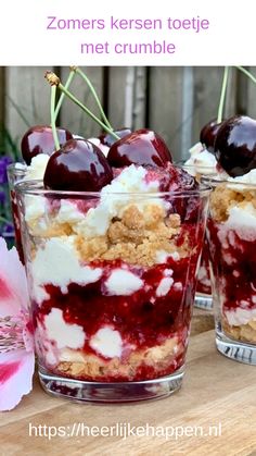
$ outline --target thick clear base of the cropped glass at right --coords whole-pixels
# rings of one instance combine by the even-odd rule
[[[234,341],[227,337],[221,331],[216,331],[216,346],[221,355],[239,362],[256,366],[256,345]]]

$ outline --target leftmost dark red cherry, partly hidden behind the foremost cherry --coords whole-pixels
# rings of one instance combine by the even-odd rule
[[[60,145],[63,145],[68,139],[73,138],[73,135],[68,130],[56,128],[56,131]],[[47,153],[50,156],[55,150],[51,126],[31,126],[22,138],[21,149],[23,159],[27,164],[30,164],[33,157],[36,157],[39,153]]]

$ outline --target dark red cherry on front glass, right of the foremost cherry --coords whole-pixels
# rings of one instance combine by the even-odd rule
[[[165,167],[172,161],[165,141],[151,130],[138,130],[114,143],[110,148],[107,160],[115,168],[132,163]]]

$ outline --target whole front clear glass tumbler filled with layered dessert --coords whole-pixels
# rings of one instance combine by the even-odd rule
[[[178,390],[210,189],[15,189],[43,389],[92,402]]]

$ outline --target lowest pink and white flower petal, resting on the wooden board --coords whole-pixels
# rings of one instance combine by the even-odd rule
[[[34,353],[25,349],[0,353],[0,410],[11,410],[33,387]]]

